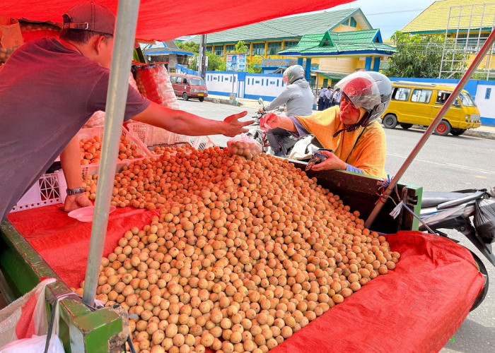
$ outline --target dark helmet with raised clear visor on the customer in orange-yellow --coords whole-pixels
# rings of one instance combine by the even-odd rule
[[[375,71],[358,71],[342,78],[336,88],[357,108],[367,114],[359,121],[361,126],[369,126],[385,112],[392,96],[392,84],[387,76]]]

